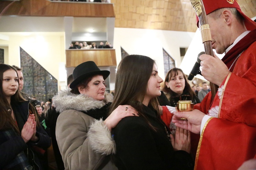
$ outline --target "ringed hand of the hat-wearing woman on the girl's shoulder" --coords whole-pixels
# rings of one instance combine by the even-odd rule
[[[139,113],[136,109],[130,105],[119,105],[106,120],[104,124],[111,130],[116,127],[120,120],[128,116],[139,116]]]

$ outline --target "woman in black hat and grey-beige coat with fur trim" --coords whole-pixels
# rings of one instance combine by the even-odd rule
[[[56,139],[65,169],[116,169],[106,156],[115,150],[115,143],[108,135],[119,120],[137,115],[137,112],[128,105],[119,106],[106,119],[113,100],[110,93],[105,93],[105,79],[109,74],[109,71],[101,71],[93,61],[84,62],[73,71],[72,90],[60,91],[53,98],[56,111],[61,113],[56,124]],[[118,112],[123,114],[116,114]],[[104,130],[97,133],[97,141],[92,141],[88,136],[95,133],[88,135],[88,131],[94,131],[90,126],[96,120]],[[103,154],[93,150],[95,144],[104,146]]]

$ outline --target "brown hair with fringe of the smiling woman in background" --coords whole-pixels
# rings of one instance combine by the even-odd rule
[[[190,87],[189,83],[188,83],[188,80],[187,80],[187,77],[186,75],[183,73],[182,69],[180,68],[172,68],[169,70],[169,72],[166,74],[166,77],[165,77],[165,82],[169,82],[170,81],[170,78],[171,77],[175,77],[179,74],[179,72],[182,73],[184,79],[185,79],[185,87],[184,87],[184,90],[183,91],[187,91],[189,93],[189,96],[190,96],[190,100],[192,100],[196,93],[193,91],[193,89]],[[170,95],[170,97],[176,97],[177,96],[177,93],[175,93],[174,91],[172,91],[170,88],[168,88],[166,86],[166,84],[164,83],[163,85],[163,92],[167,93]],[[168,98],[169,99],[169,98]]]

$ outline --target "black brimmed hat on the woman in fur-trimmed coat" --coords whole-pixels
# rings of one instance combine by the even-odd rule
[[[70,88],[73,89],[77,84],[87,77],[94,75],[102,75],[104,80],[108,78],[110,72],[107,70],[100,70],[99,67],[93,61],[86,61],[75,67],[73,71],[74,80],[70,84]]]

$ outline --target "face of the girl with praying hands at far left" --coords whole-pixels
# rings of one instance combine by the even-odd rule
[[[18,90],[18,75],[13,69],[9,69],[3,73],[2,88],[5,97],[11,97]]]

